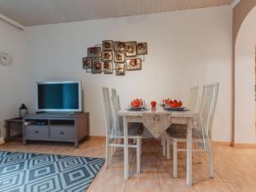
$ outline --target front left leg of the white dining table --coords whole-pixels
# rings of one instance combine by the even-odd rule
[[[129,148],[128,148],[128,126],[127,119],[124,117],[124,159],[125,159],[125,178],[129,178]]]

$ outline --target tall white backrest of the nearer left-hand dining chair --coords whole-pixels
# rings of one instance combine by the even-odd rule
[[[113,134],[113,112],[111,108],[111,101],[109,96],[109,90],[107,87],[102,87],[102,98],[103,98],[103,104],[104,104],[104,113],[105,113],[105,119],[106,119],[106,137],[111,137],[111,134]]]

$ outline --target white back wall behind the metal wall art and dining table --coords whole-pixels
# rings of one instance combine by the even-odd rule
[[[125,108],[132,98],[147,102],[171,96],[187,100],[189,87],[220,82],[213,139],[230,141],[230,6],[27,28],[28,89],[37,81],[83,81],[91,135],[104,135],[101,86],[114,87]],[[104,39],[148,42],[143,70],[124,77],[85,73],[86,49]],[[30,91],[30,107],[34,96]]]

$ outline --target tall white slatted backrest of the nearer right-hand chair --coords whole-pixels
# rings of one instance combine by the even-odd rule
[[[218,99],[218,86],[219,83],[203,86],[200,119],[205,142],[212,139],[212,121]]]

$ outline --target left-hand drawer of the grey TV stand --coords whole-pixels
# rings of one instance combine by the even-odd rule
[[[26,126],[26,137],[32,138],[48,138],[48,126],[29,125]]]

